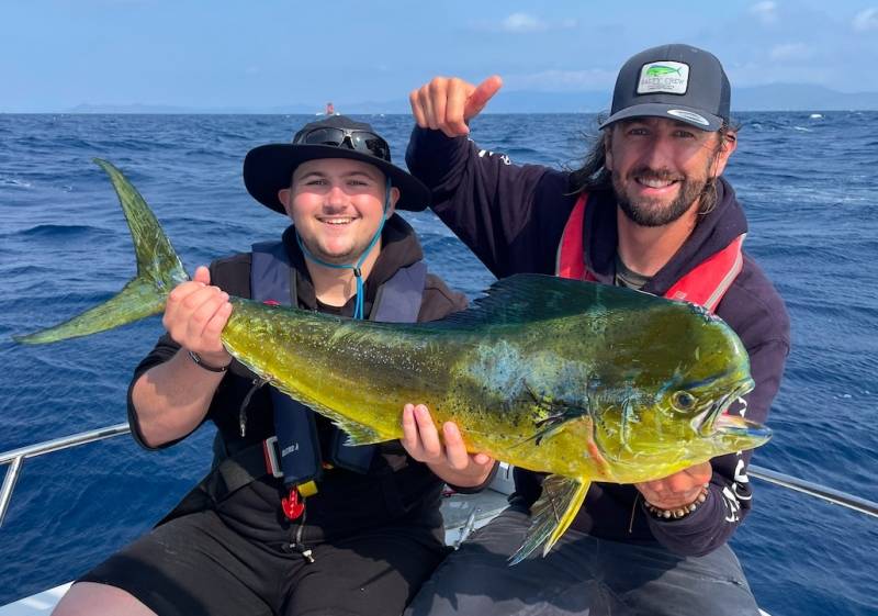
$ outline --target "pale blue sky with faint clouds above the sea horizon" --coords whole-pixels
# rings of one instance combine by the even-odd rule
[[[878,0],[0,0],[0,112],[339,107],[436,75],[609,92],[672,42],[712,52],[733,88],[878,91]]]

